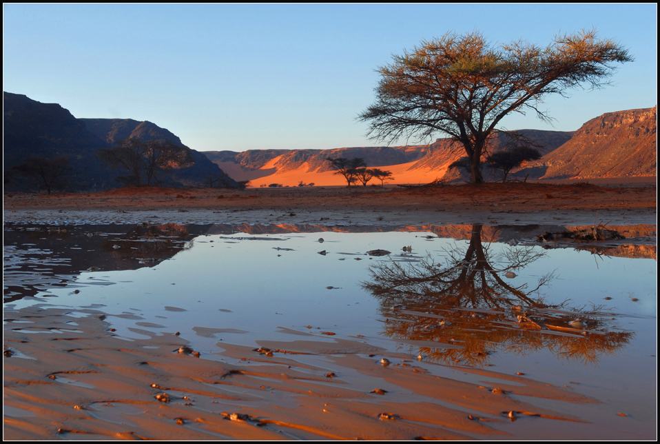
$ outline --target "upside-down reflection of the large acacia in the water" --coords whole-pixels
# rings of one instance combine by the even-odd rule
[[[420,352],[433,361],[467,365],[485,365],[497,350],[528,354],[543,348],[561,358],[596,363],[600,354],[630,341],[632,333],[606,332],[602,314],[532,296],[552,274],[532,290],[507,283],[504,274],[544,253],[519,247],[495,255],[481,234],[482,226],[473,225],[468,248],[449,251],[446,265],[428,258],[416,265],[371,267],[372,279],[364,288],[380,299],[383,310],[394,311],[388,314],[386,335],[433,342]],[[581,324],[572,324],[576,317]]]

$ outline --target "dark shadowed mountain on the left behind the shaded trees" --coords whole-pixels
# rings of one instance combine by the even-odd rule
[[[132,119],[76,119],[57,103],[40,103],[23,94],[3,92],[3,167],[5,188],[34,190],[28,179],[11,174],[11,168],[32,156],[54,159],[68,157],[71,170],[65,176],[65,190],[105,190],[119,186],[116,176],[98,157],[102,148],[114,146],[127,137],[143,140],[165,139],[185,147],[181,139],[151,122]],[[190,148],[185,147],[187,150]],[[190,150],[194,164],[164,174],[164,184],[203,185],[209,177],[216,183],[236,186],[218,165],[202,153]],[[7,180],[10,179],[10,180]]]

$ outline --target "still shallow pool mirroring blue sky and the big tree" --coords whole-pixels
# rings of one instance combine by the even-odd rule
[[[4,305],[97,308],[125,341],[179,332],[205,359],[296,332],[360,338],[641,416],[657,400],[655,228],[536,241],[553,229],[6,225]]]

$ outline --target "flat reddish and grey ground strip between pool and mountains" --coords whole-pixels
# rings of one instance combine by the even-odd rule
[[[488,183],[433,188],[122,188],[4,197],[6,222],[438,224],[655,223],[655,186]]]

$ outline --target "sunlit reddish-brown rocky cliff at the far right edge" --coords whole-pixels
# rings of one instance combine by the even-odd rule
[[[542,179],[657,176],[657,105],[591,119],[570,141],[530,166]]]

